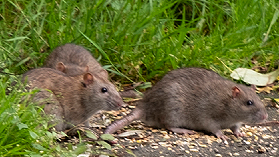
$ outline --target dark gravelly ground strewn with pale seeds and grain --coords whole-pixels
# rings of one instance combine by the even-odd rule
[[[266,97],[278,98],[278,94],[260,94],[266,105],[268,121],[279,121],[278,105]],[[104,111],[91,118],[93,129],[102,133],[111,120],[129,114],[133,103],[119,111]],[[211,133],[198,132],[194,135],[176,134],[165,129],[145,126],[141,121],[133,121],[118,130],[114,140],[136,156],[279,156],[279,128],[273,126],[243,125],[245,137],[236,138],[229,129],[223,130],[229,140],[220,140]],[[122,136],[122,137],[119,137]],[[117,156],[132,156],[125,149],[112,146],[110,153]]]

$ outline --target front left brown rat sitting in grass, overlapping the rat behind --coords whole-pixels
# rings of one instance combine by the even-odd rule
[[[83,122],[89,127],[87,119],[97,111],[116,110],[124,104],[111,82],[90,72],[68,76],[55,69],[38,68],[23,74],[22,81],[28,82],[29,89],[41,89],[33,101],[44,104],[46,114],[55,115],[57,131]]]

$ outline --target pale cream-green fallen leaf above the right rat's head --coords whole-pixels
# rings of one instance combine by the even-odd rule
[[[262,74],[247,68],[236,68],[234,69],[234,71],[232,71],[230,76],[236,80],[241,79],[242,81],[248,84],[254,84],[257,86],[266,86],[274,82],[278,75],[279,75],[279,69],[272,71],[270,73]]]

